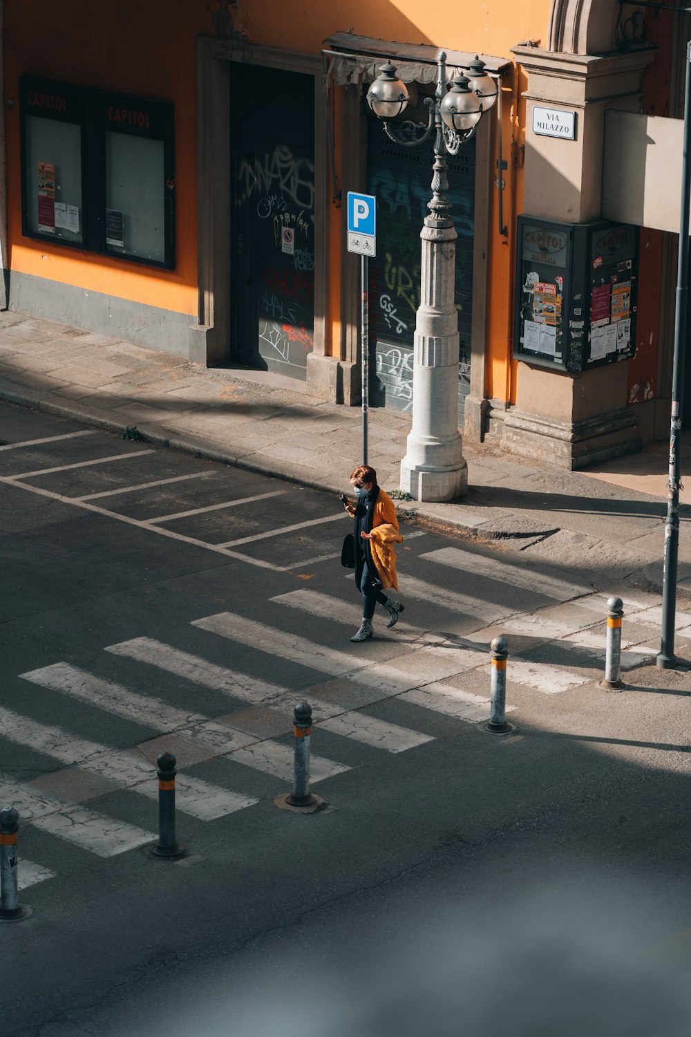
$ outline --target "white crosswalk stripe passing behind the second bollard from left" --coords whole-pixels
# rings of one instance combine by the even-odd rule
[[[120,788],[138,792],[150,800],[159,797],[153,767],[134,753],[118,752],[95,741],[73,738],[68,731],[60,727],[40,724],[2,706],[0,735],[8,741],[51,756],[67,766],[77,766],[89,774],[99,775]],[[177,809],[201,820],[215,820],[255,803],[257,800],[209,785],[190,775],[177,776]]]

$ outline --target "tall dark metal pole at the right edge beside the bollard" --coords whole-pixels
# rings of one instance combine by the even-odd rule
[[[684,404],[684,354],[689,280],[689,209],[691,202],[691,40],[686,45],[686,94],[684,99],[684,150],[682,155],[682,211],[679,230],[676,309],[674,314],[674,365],[671,380],[671,427],[669,431],[669,489],[665,524],[665,561],[662,587],[662,638],[657,665],[668,670],[674,655],[676,613],[676,566],[679,559],[679,486],[681,482],[682,410]]]

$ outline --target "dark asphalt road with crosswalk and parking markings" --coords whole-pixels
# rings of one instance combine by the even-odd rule
[[[32,910],[0,923],[3,1034],[688,1032],[685,937],[650,954],[691,926],[691,681],[646,662],[656,598],[404,525],[406,611],[351,645],[330,496],[6,404],[0,441],[0,795]],[[303,698],[327,808],[298,816],[273,801]],[[149,853],[167,749],[177,863]]]

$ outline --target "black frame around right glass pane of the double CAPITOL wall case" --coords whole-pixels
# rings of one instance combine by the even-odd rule
[[[100,179],[99,212],[100,251],[105,255],[128,262],[173,270],[175,267],[175,136],[173,104],[128,93],[98,94]],[[107,241],[108,153],[109,133],[127,134],[147,140],[162,141],[164,146],[164,258],[125,252]]]

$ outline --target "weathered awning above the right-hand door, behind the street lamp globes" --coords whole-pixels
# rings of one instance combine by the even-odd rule
[[[322,51],[324,57],[328,58],[326,84],[362,86],[363,83],[372,82],[388,58],[396,65],[398,76],[404,83],[434,83],[440,50],[447,50],[450,80],[459,69],[466,68],[476,57],[474,51],[449,50],[431,44],[399,44],[391,39],[356,36],[352,32],[335,32],[324,39]],[[494,75],[500,75],[511,65],[508,58],[489,54],[481,54],[480,57],[485,62],[487,72]]]

